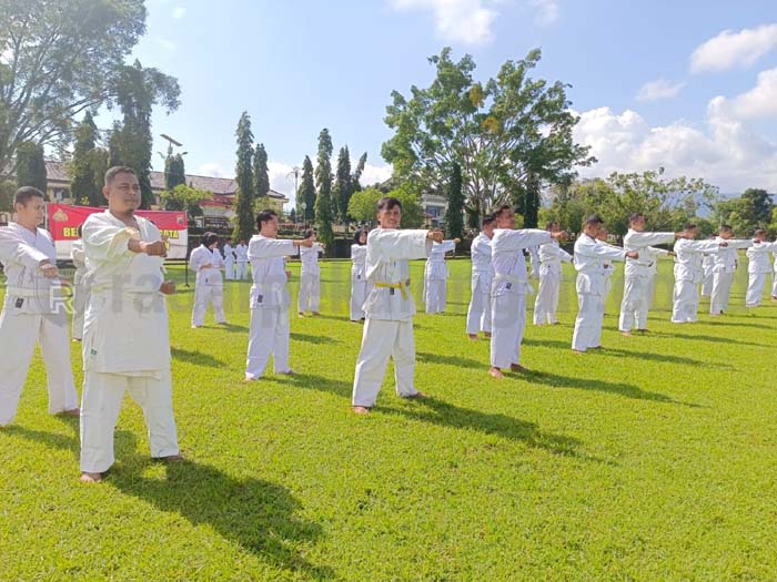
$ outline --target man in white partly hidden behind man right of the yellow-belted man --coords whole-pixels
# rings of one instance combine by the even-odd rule
[[[470,288],[472,297],[466,312],[466,333],[470,339],[477,339],[483,331],[491,337],[491,284],[494,280],[494,266],[491,263],[491,238],[494,236],[496,216],[483,218],[483,229],[470,247],[472,256],[472,278]]]

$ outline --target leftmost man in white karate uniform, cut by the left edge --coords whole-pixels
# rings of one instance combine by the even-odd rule
[[[36,343],[46,364],[49,413],[79,415],[57,251],[49,233],[38,228],[43,201],[39,190],[19,188],[13,198],[17,222],[0,227],[7,279],[0,314],[0,427],[17,416]]]

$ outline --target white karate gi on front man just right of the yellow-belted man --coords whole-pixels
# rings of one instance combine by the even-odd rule
[[[553,241],[536,228],[495,228],[491,239],[494,282],[491,286],[491,366],[509,368],[521,364],[521,343],[526,325],[526,275],[524,249]]]

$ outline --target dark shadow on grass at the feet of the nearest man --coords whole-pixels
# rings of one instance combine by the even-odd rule
[[[74,437],[17,426],[6,430],[49,447],[71,450],[78,459],[78,419],[62,420],[74,429]],[[311,564],[300,554],[297,547],[320,538],[323,529],[296,515],[302,504],[285,487],[263,479],[239,479],[192,460],[165,463],[167,479],[147,478],[145,469],[159,461],[137,455],[135,449],[135,435],[118,430],[117,466],[105,474],[102,486],[83,487],[113,486],[160,511],[182,515],[195,525],[210,525],[225,540],[275,568],[303,572],[313,580],[333,578],[330,568]],[[73,466],[73,479],[77,467]],[[85,489],[84,494],[88,494]]]

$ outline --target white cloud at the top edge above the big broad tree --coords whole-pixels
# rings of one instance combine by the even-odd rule
[[[389,0],[395,10],[431,10],[437,34],[463,44],[486,44],[493,40],[497,12],[493,0]]]

